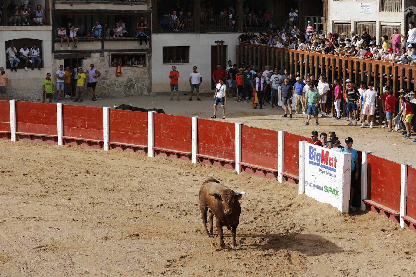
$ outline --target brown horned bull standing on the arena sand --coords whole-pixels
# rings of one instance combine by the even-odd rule
[[[223,240],[223,226],[231,230],[233,242],[231,247],[235,248],[235,231],[238,223],[240,223],[240,202],[244,191],[233,191],[223,186],[217,180],[211,178],[206,180],[201,189],[199,189],[199,208],[201,209],[201,218],[204,224],[205,234],[210,238],[213,234],[213,217],[217,226],[218,235],[220,237],[220,248],[225,247]],[[209,211],[210,231],[207,228],[207,214]]]

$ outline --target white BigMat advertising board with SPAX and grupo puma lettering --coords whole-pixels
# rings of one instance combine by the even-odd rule
[[[299,142],[299,194],[348,213],[351,154]]]

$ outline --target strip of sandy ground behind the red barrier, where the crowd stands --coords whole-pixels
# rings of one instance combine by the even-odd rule
[[[180,101],[169,101],[170,95],[157,95],[156,97],[141,96],[129,98],[104,98],[99,101],[85,99],[83,105],[95,107],[113,107],[114,104],[132,104],[141,108],[161,108],[165,113],[185,116],[199,116],[200,118],[210,118],[213,115],[213,98],[206,94],[201,97],[201,102],[188,101],[189,96],[180,96]],[[176,99],[176,98],[175,98]],[[75,104],[66,102],[67,104]],[[347,121],[334,120],[329,117],[319,118],[319,126],[315,126],[312,119],[310,126],[305,126],[306,115],[295,114],[293,118],[282,118],[284,110],[280,107],[271,108],[266,105],[264,110],[253,110],[251,103],[236,103],[235,98],[229,98],[225,104],[227,122],[244,123],[245,125],[255,126],[271,130],[287,130],[296,135],[310,136],[312,130],[321,132],[336,132],[341,141],[345,137],[354,139],[353,148],[362,151],[371,151],[372,154],[389,159],[400,164],[412,164],[416,166],[416,156],[414,155],[416,143],[402,138],[401,132],[386,133],[387,128],[374,126],[360,128],[360,126],[349,126]],[[218,114],[222,111],[218,109]],[[223,119],[216,119],[223,120]],[[416,138],[414,134],[412,140]]]

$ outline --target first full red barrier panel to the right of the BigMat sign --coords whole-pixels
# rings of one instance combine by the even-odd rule
[[[367,188],[369,200],[364,200],[367,209],[379,213],[395,222],[400,216],[400,172],[401,164],[374,155],[368,155]]]

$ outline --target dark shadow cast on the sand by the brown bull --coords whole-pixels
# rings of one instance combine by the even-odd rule
[[[322,254],[334,254],[349,252],[332,243],[323,236],[316,234],[290,233],[279,234],[238,234],[237,248],[235,250],[253,249],[260,250],[292,250],[309,256]]]

